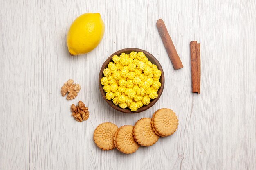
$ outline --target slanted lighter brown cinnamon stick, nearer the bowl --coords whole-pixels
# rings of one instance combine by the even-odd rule
[[[171,37],[162,19],[157,20],[157,29],[164,43],[166,52],[171,59],[174,69],[177,70],[183,68],[180,57],[175,49],[175,46],[173,45],[173,41],[171,40]]]

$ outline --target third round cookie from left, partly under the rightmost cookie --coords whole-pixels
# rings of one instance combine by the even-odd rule
[[[133,136],[141,146],[151,146],[158,141],[159,136],[153,131],[151,118],[141,118],[133,128]]]

